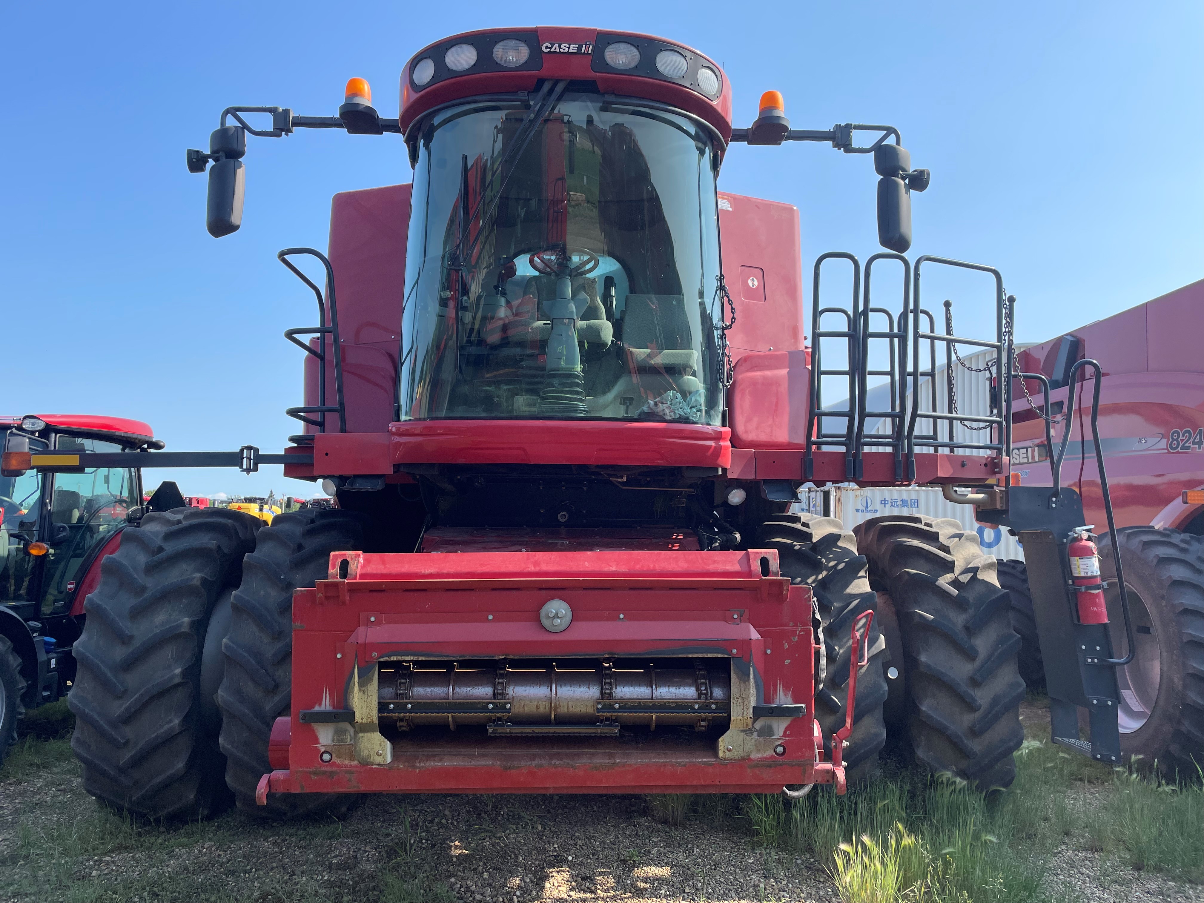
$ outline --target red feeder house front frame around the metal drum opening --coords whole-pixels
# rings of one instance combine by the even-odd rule
[[[347,579],[294,595],[293,649],[307,667],[293,673],[289,768],[261,792],[777,792],[843,778],[816,752],[810,594],[780,577],[777,551],[352,551],[334,553],[330,571]],[[550,597],[572,606],[560,633],[539,622]],[[690,745],[655,732],[643,745],[401,734],[386,763],[360,765],[352,744],[300,719],[301,709],[348,707],[355,669],[389,660],[674,655],[730,660],[751,677],[754,704],[807,712],[756,720],[759,745],[730,760],[714,739]]]

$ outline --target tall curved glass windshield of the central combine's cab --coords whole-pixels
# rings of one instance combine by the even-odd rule
[[[596,94],[435,113],[414,172],[401,418],[718,424],[712,160],[689,117]]]

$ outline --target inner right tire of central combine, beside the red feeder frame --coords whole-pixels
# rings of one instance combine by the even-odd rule
[[[811,588],[824,644],[815,718],[824,732],[825,751],[831,756],[832,734],[845,720],[852,624],[862,612],[875,610],[877,606],[877,595],[866,576],[866,559],[857,554],[856,538],[839,520],[814,514],[771,515],[757,530],[755,548],[777,549],[783,577]],[[857,672],[852,733],[844,750],[850,784],[873,777],[878,754],[886,743],[883,725],[886,644],[877,618],[866,642],[869,661]]]

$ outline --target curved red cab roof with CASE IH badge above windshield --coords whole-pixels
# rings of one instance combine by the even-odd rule
[[[495,33],[513,34],[517,31],[535,31],[541,45],[547,42],[563,43],[595,43],[600,34],[615,34],[600,31],[596,28],[572,28],[539,25],[536,29],[480,29],[478,31],[466,31],[456,37],[468,37],[473,35],[489,35]],[[651,37],[656,41],[663,39],[637,33],[626,33],[633,37]],[[444,39],[449,40],[449,39]],[[444,41],[439,41],[442,45]],[[710,60],[704,53],[698,53],[691,47],[686,47],[677,41],[665,41],[667,45],[680,47],[703,59],[707,59],[722,79],[722,89],[716,100],[708,100],[702,94],[672,82],[659,78],[648,78],[635,75],[621,75],[619,72],[595,72],[591,69],[591,57],[589,54],[576,53],[543,53],[543,66],[536,71],[489,71],[453,76],[445,81],[431,84],[427,88],[414,90],[409,84],[409,67],[421,59],[430,47],[424,47],[415,53],[406,64],[401,73],[401,110],[399,118],[402,131],[409,128],[414,119],[429,110],[433,110],[443,104],[449,104],[461,98],[472,98],[482,94],[496,94],[501,92],[530,92],[535,90],[536,83],[547,78],[569,78],[578,81],[596,82],[598,90],[603,94],[618,94],[620,96],[647,98],[659,100],[663,104],[685,110],[710,123],[720,134],[724,142],[732,135],[732,89],[724,70]]]

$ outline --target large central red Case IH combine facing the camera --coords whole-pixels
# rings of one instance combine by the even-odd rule
[[[397,134],[414,178],[337,195],[329,258],[279,254],[319,313],[285,334],[307,355],[285,453],[141,455],[283,462],[338,507],[270,526],[185,509],[130,531],[88,598],[71,697],[89,792],[157,816],[228,790],[272,816],[366,791],[843,792],[889,734],[932,771],[1007,786],[1025,686],[995,560],[952,520],[854,536],[789,513],[802,484],[850,480],[940,484],[1025,531],[1043,643],[1073,666],[1050,685],[1055,738],[1119,761],[1122,660],[1070,589],[1079,497],[1010,485],[1010,382],[991,417],[864,401],[870,377],[914,389],[940,343],[1010,372],[1002,277],[903,256],[928,172],[896,129],[796,130],[775,92],[736,129],[731,96],[679,43],[532,28],[415,54],[399,119],[358,78],[337,117],[223,112],[208,153],[188,152],[214,236],[241,223],[248,134]],[[816,261],[810,349],[797,212],[716,187],[732,142],[786,141],[873,158],[890,249]],[[852,293],[822,306],[832,266]],[[870,305],[883,266],[902,275],[890,311]],[[992,336],[936,334],[920,273],[938,267],[988,282]],[[848,407],[826,411],[825,391]],[[895,431],[867,435],[867,418]],[[982,441],[942,438],[954,419]]]

